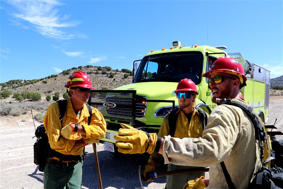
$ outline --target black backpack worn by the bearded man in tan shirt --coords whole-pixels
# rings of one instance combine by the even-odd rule
[[[256,114],[253,112],[253,107],[249,106],[246,107],[241,102],[235,102],[231,99],[223,99],[223,102],[228,105],[233,105],[240,107],[249,117],[251,118],[254,129],[255,129],[255,136],[256,140],[266,141],[266,135],[263,129],[263,124],[261,120],[258,119]],[[276,165],[273,168],[269,169],[264,167],[269,161],[274,160],[274,157],[269,157],[263,162],[264,157],[264,146],[260,144],[260,158],[261,158],[261,168],[256,172],[256,176],[252,180],[251,184],[249,185],[250,189],[278,189],[279,187],[283,187],[283,169],[281,167],[277,167]],[[220,162],[224,176],[228,183],[230,189],[234,189],[235,186],[232,183],[231,177],[226,169],[224,162]],[[276,185],[275,185],[276,184]]]

